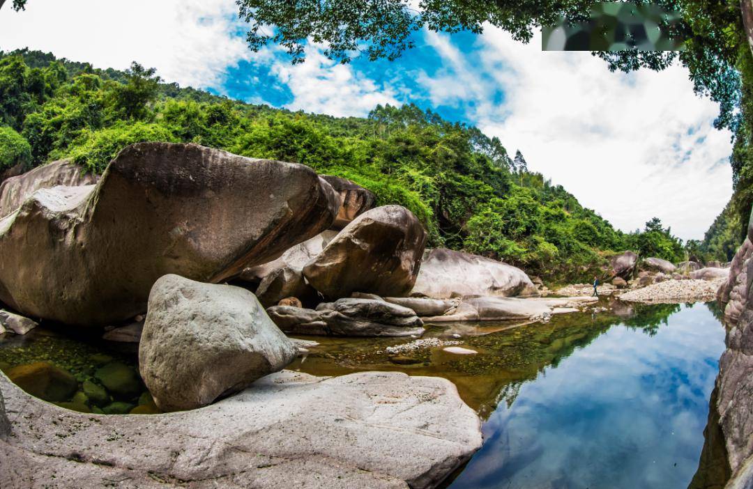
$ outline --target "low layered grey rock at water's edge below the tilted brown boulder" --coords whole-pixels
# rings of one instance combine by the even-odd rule
[[[414,336],[423,333],[416,313],[401,305],[377,299],[338,299],[312,309],[288,305],[267,308],[272,320],[286,333],[322,336]]]

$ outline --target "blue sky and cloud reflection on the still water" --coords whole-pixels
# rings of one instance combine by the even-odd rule
[[[450,487],[687,487],[724,330],[697,304],[652,331],[615,325],[523,384]]]

